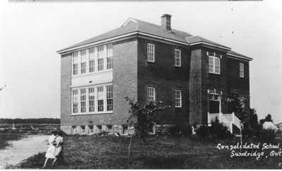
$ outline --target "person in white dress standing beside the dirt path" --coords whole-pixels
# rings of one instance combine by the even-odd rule
[[[46,155],[45,155],[45,163],[44,163],[44,167],[46,167],[47,161],[49,160],[49,158],[54,158],[54,161],[52,163],[52,167],[54,165],[54,163],[56,162],[56,138],[58,136],[58,132],[57,131],[51,131],[52,135],[49,136],[48,139],[48,143],[49,143],[49,148],[47,149]]]

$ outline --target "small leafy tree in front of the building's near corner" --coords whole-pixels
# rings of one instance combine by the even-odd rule
[[[130,116],[128,117],[128,125],[133,126],[135,135],[139,136],[146,144],[145,136],[149,134],[149,130],[152,129],[157,122],[158,112],[163,112],[169,105],[164,105],[163,102],[151,101],[147,105],[140,105],[135,100],[131,100],[126,97],[126,101],[129,101]]]

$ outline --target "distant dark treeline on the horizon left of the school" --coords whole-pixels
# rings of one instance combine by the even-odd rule
[[[60,124],[61,119],[58,118],[32,118],[32,119],[0,119],[0,124]]]

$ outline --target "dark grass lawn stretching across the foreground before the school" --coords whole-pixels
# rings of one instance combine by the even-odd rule
[[[145,146],[133,138],[128,164],[129,137],[65,136],[65,165],[54,169],[281,169],[282,156],[233,157],[219,150],[218,143],[235,145],[238,141],[199,140],[197,137],[150,136]],[[281,141],[282,140],[277,140]],[[276,142],[277,144],[278,142]],[[273,149],[272,149],[273,150]],[[238,152],[237,150],[236,152]],[[261,150],[259,150],[261,151]],[[44,153],[34,155],[19,168],[37,169],[44,164]],[[49,163],[49,166],[51,162]]]

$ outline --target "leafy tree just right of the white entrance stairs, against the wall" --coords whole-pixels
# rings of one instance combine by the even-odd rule
[[[235,113],[235,116],[241,121],[244,121],[247,118],[247,104],[249,101],[249,95],[239,95],[236,91],[232,91],[229,98],[226,99],[228,108],[231,109]]]

